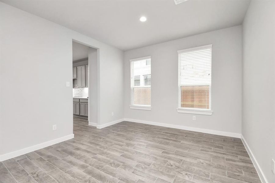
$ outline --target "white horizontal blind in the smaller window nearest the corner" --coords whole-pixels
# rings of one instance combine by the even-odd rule
[[[131,106],[151,106],[151,57],[130,60]]]

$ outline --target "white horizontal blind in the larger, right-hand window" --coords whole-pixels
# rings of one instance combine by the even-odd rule
[[[211,109],[212,45],[178,51],[179,108]]]

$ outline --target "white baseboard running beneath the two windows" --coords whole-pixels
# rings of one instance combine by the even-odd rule
[[[156,125],[161,127],[177,128],[181,130],[190,130],[190,131],[197,131],[197,132],[203,132],[203,133],[209,133],[209,134],[215,134],[215,135],[241,138],[241,134],[226,132],[226,131],[208,130],[204,128],[186,127],[186,126],[175,125],[175,124],[158,123],[158,122],[135,120],[135,119],[128,119],[128,118],[125,118],[124,120],[130,121],[130,122],[136,122],[136,123],[151,124],[151,125]]]

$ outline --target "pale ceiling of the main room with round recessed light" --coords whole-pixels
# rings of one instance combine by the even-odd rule
[[[240,25],[249,0],[1,0],[121,50]],[[146,22],[139,17],[146,16]]]

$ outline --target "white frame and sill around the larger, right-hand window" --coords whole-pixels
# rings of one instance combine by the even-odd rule
[[[189,51],[194,51],[194,50],[199,50],[199,49],[204,49],[204,48],[209,48],[209,47],[212,48],[212,44],[211,45],[198,46],[198,47],[195,47],[195,48],[188,48],[188,49],[178,50],[178,56],[179,56],[179,53],[182,53],[182,52],[189,52]],[[212,50],[211,50],[211,54],[212,54]],[[178,59],[178,62],[179,62],[179,59]],[[212,60],[211,60],[211,65],[212,65]],[[179,66],[178,66],[178,73],[179,73]],[[178,80],[179,80],[179,76],[178,76]],[[211,75],[211,80],[212,80],[212,75]],[[178,87],[179,87],[179,85],[178,85]],[[210,85],[210,87],[212,89],[212,84]],[[177,108],[177,111],[178,111],[178,113],[212,115],[213,111],[212,111],[212,103],[211,103],[212,99],[211,98],[212,98],[212,94],[209,95],[209,104],[211,104],[210,105],[211,106],[210,109],[179,107],[181,99],[180,99],[180,94],[178,93],[178,108]]]

